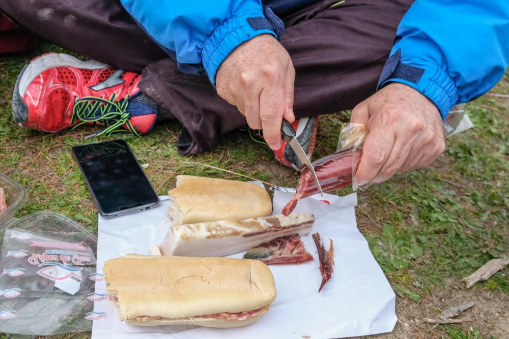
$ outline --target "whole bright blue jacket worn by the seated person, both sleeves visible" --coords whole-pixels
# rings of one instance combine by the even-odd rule
[[[317,0],[121,0],[181,71],[215,83],[222,61],[261,34],[279,38],[288,12]],[[509,65],[508,0],[417,0],[398,27],[378,88],[397,81],[427,96],[445,119],[493,87]]]

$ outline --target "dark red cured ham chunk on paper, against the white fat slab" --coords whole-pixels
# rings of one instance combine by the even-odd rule
[[[301,264],[313,260],[313,256],[306,251],[299,235],[292,234],[250,249],[244,255],[244,259],[260,260],[267,265]]]

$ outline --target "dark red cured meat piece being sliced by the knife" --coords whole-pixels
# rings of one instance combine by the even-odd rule
[[[352,168],[357,168],[361,156],[361,149],[347,149],[314,161],[313,167],[322,191],[333,191],[352,184]],[[313,183],[313,175],[305,168],[300,176],[297,190],[292,200],[283,208],[282,214],[290,214],[300,199],[317,193],[319,192]]]

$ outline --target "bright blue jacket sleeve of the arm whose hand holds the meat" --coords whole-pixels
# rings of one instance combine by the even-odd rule
[[[509,65],[509,1],[417,0],[378,82],[405,83],[449,110],[485,94]]]

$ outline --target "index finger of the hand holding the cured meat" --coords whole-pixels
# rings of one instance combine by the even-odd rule
[[[383,125],[372,124],[372,130],[362,146],[362,157],[355,173],[359,184],[372,182],[377,176],[387,158],[389,158],[394,139],[392,129],[386,129]]]

